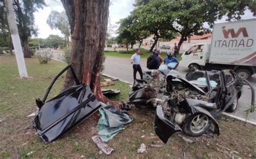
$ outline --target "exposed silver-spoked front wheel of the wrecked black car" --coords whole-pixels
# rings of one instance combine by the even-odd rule
[[[185,134],[193,137],[203,135],[211,126],[211,122],[207,115],[196,114],[188,117],[183,125]]]

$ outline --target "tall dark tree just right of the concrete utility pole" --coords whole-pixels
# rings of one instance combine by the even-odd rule
[[[44,0],[13,0],[13,5],[17,18],[19,37],[23,43],[24,57],[31,57],[29,37],[37,35],[33,13],[38,9],[43,9],[45,6]]]

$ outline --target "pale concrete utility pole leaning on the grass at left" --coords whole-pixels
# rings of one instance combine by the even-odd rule
[[[26,65],[22,52],[21,40],[19,39],[18,27],[16,24],[16,18],[14,14],[14,8],[12,6],[12,1],[4,0],[6,6],[6,14],[8,19],[8,24],[11,32],[12,44],[14,44],[15,57],[18,64],[19,77],[28,77],[26,73]]]

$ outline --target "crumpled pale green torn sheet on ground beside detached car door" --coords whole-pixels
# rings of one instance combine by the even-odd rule
[[[98,135],[102,141],[107,142],[123,129],[123,126],[132,121],[129,114],[119,111],[112,105],[103,105],[99,110]]]

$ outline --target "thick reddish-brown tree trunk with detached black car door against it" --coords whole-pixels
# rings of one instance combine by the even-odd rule
[[[109,0],[61,0],[71,27],[71,59],[80,82],[90,86],[96,98],[116,105],[106,98],[100,87],[100,69],[103,65]],[[65,78],[64,89],[74,85],[71,71]]]

